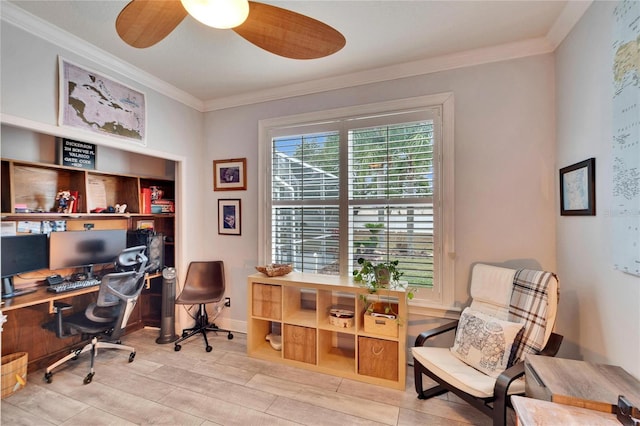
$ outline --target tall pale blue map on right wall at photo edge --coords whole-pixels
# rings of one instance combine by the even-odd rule
[[[613,14],[612,251],[616,269],[640,276],[640,2]]]

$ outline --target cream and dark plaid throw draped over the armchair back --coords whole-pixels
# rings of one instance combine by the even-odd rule
[[[524,330],[514,342],[512,363],[525,353],[538,353],[544,347],[547,328],[548,284],[551,272],[520,269],[513,278],[513,292],[509,304],[509,321],[524,323]]]

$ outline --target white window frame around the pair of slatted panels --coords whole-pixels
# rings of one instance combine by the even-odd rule
[[[336,108],[325,111],[263,119],[258,121],[258,261],[270,262],[271,252],[271,141],[292,128],[304,126],[305,133],[326,129],[327,122],[349,118],[410,112],[412,109],[437,108],[440,111],[440,132],[436,136],[437,176],[434,193],[434,268],[433,289],[420,288],[410,301],[412,312],[436,314],[454,308],[455,301],[455,194],[454,194],[454,99],[450,92],[398,99],[374,104]],[[313,124],[316,123],[316,124]],[[435,127],[435,126],[434,126]],[[436,130],[437,131],[437,130]],[[342,173],[341,173],[342,174]],[[342,181],[341,181],[342,182]],[[341,183],[342,184],[342,183]]]

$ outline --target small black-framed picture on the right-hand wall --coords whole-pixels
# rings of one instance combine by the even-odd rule
[[[560,169],[560,214],[562,216],[595,216],[595,158]]]

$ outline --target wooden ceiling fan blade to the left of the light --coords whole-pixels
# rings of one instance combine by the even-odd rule
[[[180,0],[132,0],[118,15],[116,31],[133,47],[150,47],[169,35],[187,16]]]

